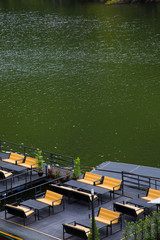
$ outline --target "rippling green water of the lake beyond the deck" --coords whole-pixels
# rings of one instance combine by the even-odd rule
[[[160,166],[160,5],[0,0],[0,139]]]

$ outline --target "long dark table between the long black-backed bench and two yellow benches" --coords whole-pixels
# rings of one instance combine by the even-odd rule
[[[98,195],[98,197],[100,198],[101,202],[102,202],[102,196],[107,193],[110,192],[110,190],[104,189],[104,188],[100,188],[100,187],[96,187],[87,183],[82,183],[76,180],[69,180],[68,182],[65,182],[64,185],[66,186],[70,186],[70,187],[75,187],[77,190],[84,190],[87,192],[91,192],[91,189],[94,189],[95,194]]]

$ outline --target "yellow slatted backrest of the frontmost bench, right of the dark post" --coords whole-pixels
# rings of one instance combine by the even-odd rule
[[[106,208],[100,208],[99,209],[99,213],[98,213],[98,217],[107,219],[107,220],[113,220],[115,218],[119,218],[120,217],[120,213],[114,212],[112,210],[106,209]],[[115,223],[118,222],[118,219],[115,220]]]

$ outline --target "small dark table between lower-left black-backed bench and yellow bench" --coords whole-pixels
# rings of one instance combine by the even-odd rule
[[[29,199],[26,201],[21,202],[21,205],[32,208],[35,210],[35,216],[38,216],[38,220],[39,220],[39,211],[49,207],[49,215],[50,215],[50,206],[48,204],[36,201],[35,199]]]

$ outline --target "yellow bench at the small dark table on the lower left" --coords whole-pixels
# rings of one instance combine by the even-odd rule
[[[56,192],[47,190],[43,198],[36,198],[36,200],[39,202],[48,204],[52,208],[53,213],[54,213],[54,207],[58,205],[62,205],[64,210],[63,195],[58,194]]]

